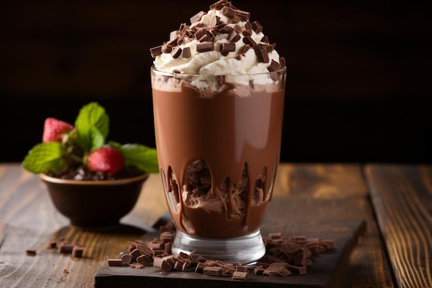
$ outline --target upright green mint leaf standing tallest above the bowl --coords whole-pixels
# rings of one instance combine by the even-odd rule
[[[99,133],[95,132],[95,128]],[[84,151],[91,151],[92,148],[99,146],[100,142],[105,142],[110,130],[110,118],[105,112],[105,108],[96,102],[90,102],[83,106],[75,120],[77,131],[77,141]],[[103,137],[103,141],[95,139]]]

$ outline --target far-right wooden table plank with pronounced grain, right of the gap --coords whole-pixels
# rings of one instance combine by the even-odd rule
[[[369,164],[365,173],[397,286],[432,287],[432,166]]]

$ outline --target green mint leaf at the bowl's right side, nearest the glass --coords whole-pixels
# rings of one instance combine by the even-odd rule
[[[157,164],[157,151],[141,144],[124,144],[110,142],[110,145],[119,149],[123,154],[126,166],[136,166],[147,173],[159,173]]]

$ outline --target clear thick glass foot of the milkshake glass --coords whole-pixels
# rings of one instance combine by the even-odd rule
[[[259,231],[248,236],[230,239],[207,239],[189,236],[177,231],[172,253],[191,253],[208,260],[221,260],[231,263],[253,265],[266,253],[266,247]]]

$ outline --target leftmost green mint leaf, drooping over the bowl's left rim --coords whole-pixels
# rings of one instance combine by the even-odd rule
[[[59,142],[43,142],[34,146],[24,157],[22,166],[32,173],[57,172],[63,168],[65,149]]]

